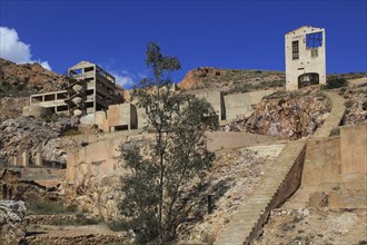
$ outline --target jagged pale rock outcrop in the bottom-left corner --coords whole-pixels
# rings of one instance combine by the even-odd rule
[[[26,237],[24,202],[0,200],[0,243],[19,244]]]

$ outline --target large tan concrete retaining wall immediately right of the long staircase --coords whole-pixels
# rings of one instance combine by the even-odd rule
[[[364,156],[367,135],[360,129],[364,125],[354,127],[346,127],[343,138],[308,141],[301,186],[282,208],[367,207],[367,163]],[[348,136],[353,139],[355,134],[358,134],[358,140],[345,139]]]

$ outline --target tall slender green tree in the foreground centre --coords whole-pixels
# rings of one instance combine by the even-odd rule
[[[146,130],[155,139],[143,147],[122,145],[121,154],[131,176],[122,178],[127,217],[125,227],[137,231],[137,242],[159,244],[175,239],[176,228],[194,209],[195,198],[185,189],[195,178],[201,183],[214,154],[206,149],[206,130],[218,128],[218,117],[204,99],[172,91],[169,72],[180,68],[175,57],[166,57],[157,43],[148,43],[147,66],[151,78],[140,81],[132,92],[147,115]],[[142,156],[148,149],[149,156]]]

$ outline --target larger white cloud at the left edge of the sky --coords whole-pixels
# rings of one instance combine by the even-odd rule
[[[0,57],[16,63],[39,62],[43,68],[51,70],[48,61],[32,60],[30,45],[19,40],[16,29],[0,27]]]

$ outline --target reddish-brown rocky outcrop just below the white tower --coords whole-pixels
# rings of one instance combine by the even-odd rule
[[[275,94],[256,105],[244,127],[255,134],[298,139],[313,135],[330,108],[328,99],[317,91]]]

